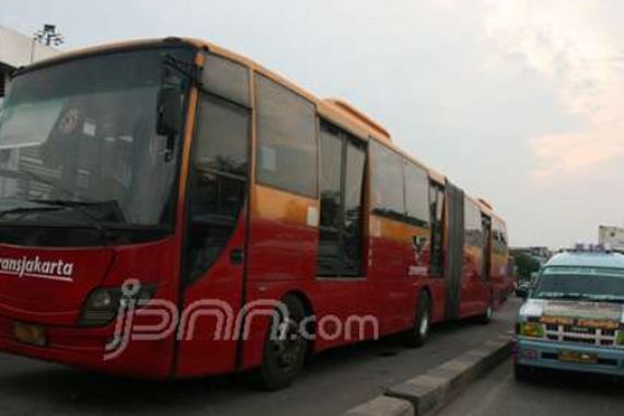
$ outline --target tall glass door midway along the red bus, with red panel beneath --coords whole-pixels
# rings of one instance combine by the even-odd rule
[[[316,308],[345,322],[350,314],[377,312],[368,299],[370,282],[363,268],[367,149],[363,142],[326,122],[321,123],[320,140],[316,275],[323,281],[319,286],[323,294],[317,297]]]

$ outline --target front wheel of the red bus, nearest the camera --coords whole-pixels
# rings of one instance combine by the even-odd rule
[[[278,312],[267,330],[259,374],[263,386],[271,391],[292,384],[303,368],[308,349],[301,332],[301,321],[305,317],[303,303],[293,296],[284,298],[282,303],[288,316]]]

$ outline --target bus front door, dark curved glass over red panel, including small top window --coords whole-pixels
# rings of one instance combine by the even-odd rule
[[[218,57],[209,57],[206,69],[210,77],[204,76],[199,94],[187,186],[175,370],[184,377],[235,369],[235,321],[245,301],[249,71]],[[238,89],[223,86],[233,80],[243,81]]]

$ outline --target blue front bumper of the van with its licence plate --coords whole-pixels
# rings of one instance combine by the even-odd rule
[[[520,338],[515,343],[513,359],[523,367],[624,377],[624,348]]]

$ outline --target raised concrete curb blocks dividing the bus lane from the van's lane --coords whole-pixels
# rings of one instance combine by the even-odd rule
[[[343,414],[343,416],[429,416],[511,355],[511,339],[499,336],[483,347],[429,370]]]

